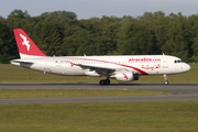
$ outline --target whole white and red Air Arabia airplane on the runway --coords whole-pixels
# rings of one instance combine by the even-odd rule
[[[139,80],[142,75],[167,76],[188,72],[190,66],[170,55],[114,55],[114,56],[47,56],[22,29],[13,29],[19,50],[19,59],[10,63],[29,69],[64,76],[101,77],[99,84]]]

